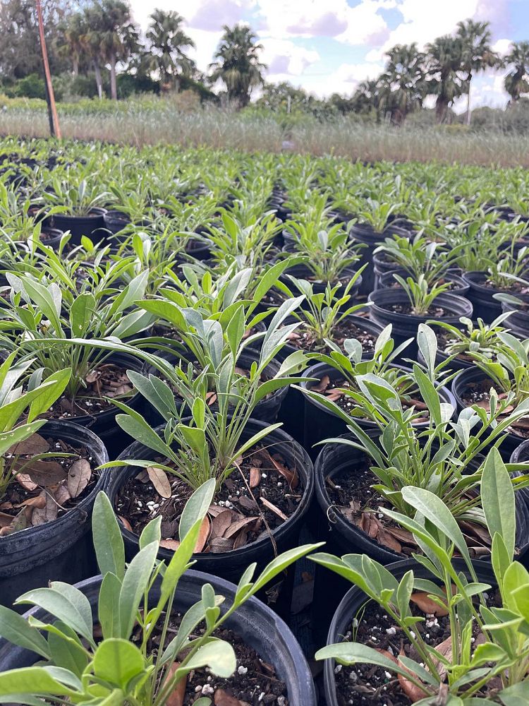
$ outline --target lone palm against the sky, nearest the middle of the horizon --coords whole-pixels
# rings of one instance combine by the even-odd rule
[[[209,64],[212,70],[211,80],[221,80],[226,84],[230,100],[244,107],[250,102],[252,89],[265,82],[263,71],[265,64],[259,61],[262,44],[257,44],[253,31],[245,25],[222,28],[219,48],[214,55],[217,61]]]

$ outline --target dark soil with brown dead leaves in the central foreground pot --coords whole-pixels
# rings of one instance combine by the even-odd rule
[[[210,506],[209,528],[205,527],[204,544],[197,551],[231,551],[269,536],[298,507],[303,496],[300,476],[286,465],[279,450],[256,447],[245,455],[239,468],[226,479]],[[162,546],[174,549],[171,543],[178,539],[182,510],[192,491],[176,477],[167,479],[170,496],[164,497],[147,471],[139,472],[121,488],[116,512],[135,534],[140,534],[153,517],[162,515]]]

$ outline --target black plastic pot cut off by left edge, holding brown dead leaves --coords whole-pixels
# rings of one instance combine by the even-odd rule
[[[95,467],[109,460],[101,439],[90,429],[70,421],[48,421],[39,434],[63,439],[74,448],[84,446]],[[97,570],[90,532],[95,496],[104,486],[104,474],[90,494],[57,520],[0,537],[0,603],[11,606],[25,591],[50,580],[75,582]]]

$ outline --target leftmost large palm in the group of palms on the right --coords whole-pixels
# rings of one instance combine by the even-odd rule
[[[396,44],[387,52],[389,61],[379,80],[380,106],[391,120],[403,123],[408,113],[422,107],[425,95],[425,55],[417,44]]]

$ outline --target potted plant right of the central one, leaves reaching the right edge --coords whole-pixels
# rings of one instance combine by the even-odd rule
[[[332,506],[332,512],[336,513],[336,508],[341,505],[341,514],[361,530],[360,534],[363,533],[364,537],[369,534],[371,539],[379,537],[379,542],[382,540],[380,543],[385,546],[378,557],[385,562],[391,561],[391,554],[387,549],[403,552],[406,540],[411,539],[411,536],[399,534],[395,537],[391,534],[391,528],[388,532],[388,528],[376,517],[372,508],[373,492],[367,496],[362,495],[362,489],[368,484],[380,505],[408,515],[412,513],[412,508],[403,499],[404,486],[413,485],[436,493],[456,521],[464,527],[468,544],[473,548],[475,556],[490,553],[490,541],[480,530],[480,527],[485,525],[485,520],[480,496],[476,493],[481,478],[482,455],[491,446],[503,443],[506,429],[523,418],[529,408],[529,402],[525,402],[515,409],[511,407],[509,412],[507,404],[510,405],[512,399],[499,403],[497,397],[494,397],[488,412],[478,407],[464,409],[456,421],[451,421],[454,407],[442,401],[434,384],[434,341],[432,330],[424,326],[422,349],[427,352],[425,359],[428,360],[428,366],[426,370],[422,370],[418,364],[414,364],[410,373],[411,381],[425,402],[427,420],[424,419],[424,411],[417,411],[413,406],[403,407],[396,385],[369,372],[357,376],[358,393],[354,393],[353,398],[363,416],[372,419],[377,434],[367,433],[358,421],[343,412],[332,400],[322,400],[322,405],[341,416],[348,431],[353,435],[327,439],[326,443],[337,443],[353,449],[352,455],[355,459],[351,457],[349,466],[345,467],[345,475],[332,477],[329,490],[327,477],[332,475],[333,462],[336,462],[336,459],[333,461],[331,449],[325,448],[316,467],[318,500],[324,513],[329,513]],[[425,424],[414,424],[418,417],[422,418]],[[363,468],[366,465],[366,457],[367,463],[370,464],[367,474]],[[356,465],[359,472],[351,476],[352,465]],[[370,479],[374,482],[371,483]],[[354,490],[336,493],[334,487],[341,486],[342,483],[346,486],[352,483]],[[513,479],[513,483],[517,488],[522,485],[520,479]],[[349,498],[352,505],[347,507],[344,498],[350,492],[353,493]],[[348,541],[351,542],[351,538]],[[371,544],[373,542],[365,542],[364,539],[363,549],[370,551]],[[413,547],[413,542],[411,546]],[[409,546],[407,551],[409,554]]]

